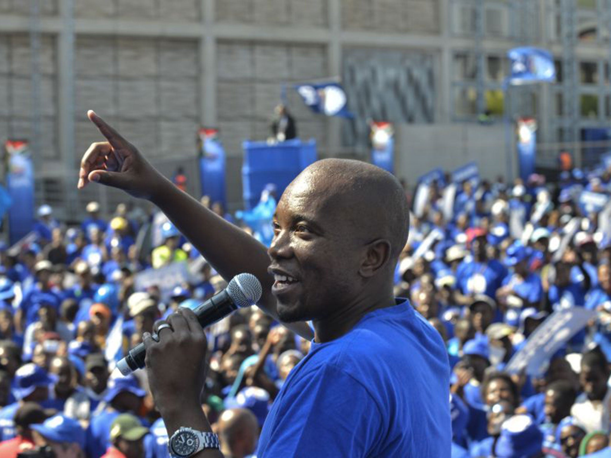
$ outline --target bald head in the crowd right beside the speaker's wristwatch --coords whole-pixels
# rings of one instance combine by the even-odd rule
[[[225,410],[218,422],[218,434],[224,453],[235,458],[254,453],[258,429],[257,417],[250,410]]]

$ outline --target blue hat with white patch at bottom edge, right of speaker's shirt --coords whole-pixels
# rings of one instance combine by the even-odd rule
[[[505,420],[494,447],[497,458],[532,458],[541,454],[543,432],[530,415],[514,415]]]

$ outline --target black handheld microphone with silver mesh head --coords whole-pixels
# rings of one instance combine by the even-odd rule
[[[199,324],[207,327],[238,310],[238,307],[254,305],[261,299],[262,293],[261,283],[257,277],[252,274],[238,274],[232,278],[227,288],[214,294],[192,310],[197,315]],[[153,334],[153,338],[157,338],[156,333]],[[117,369],[124,376],[131,374],[136,369],[142,369],[145,355],[144,343],[138,344],[128,352],[125,358],[117,362]]]

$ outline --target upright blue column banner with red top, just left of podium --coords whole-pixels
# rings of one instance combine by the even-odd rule
[[[199,129],[202,144],[199,159],[202,195],[210,196],[211,202],[221,202],[227,208],[225,194],[225,150],[219,140],[218,129]]]

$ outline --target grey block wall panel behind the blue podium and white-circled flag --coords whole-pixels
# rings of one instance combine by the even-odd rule
[[[326,146],[327,119],[312,114],[291,86],[296,79],[328,76],[324,46],[219,42],[216,59],[219,127],[227,154],[241,156],[244,139],[265,140],[271,134],[282,84],[299,136]]]

